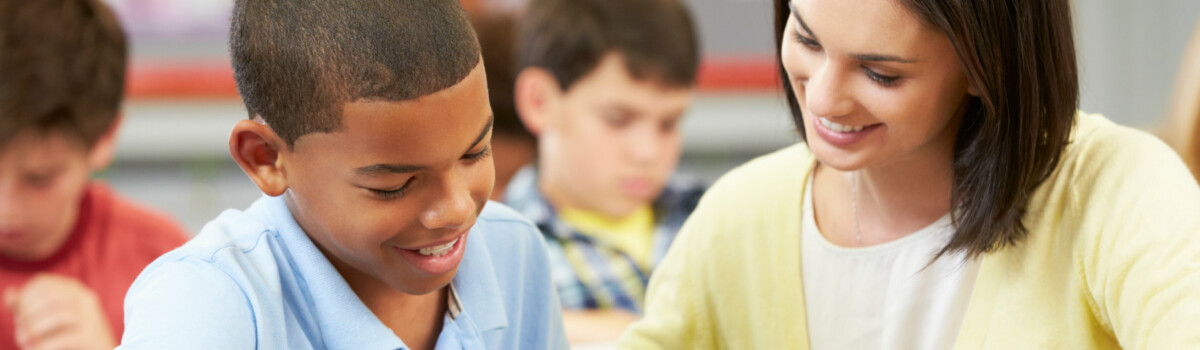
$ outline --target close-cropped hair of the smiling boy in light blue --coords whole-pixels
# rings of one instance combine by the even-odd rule
[[[288,146],[340,129],[344,103],[414,99],[479,62],[457,0],[238,0],[232,23],[238,91]]]

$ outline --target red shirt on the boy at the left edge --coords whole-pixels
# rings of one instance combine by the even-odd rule
[[[170,249],[187,241],[184,229],[166,215],[118,197],[94,182],[85,189],[71,237],[54,255],[41,261],[0,257],[0,290],[22,285],[37,273],[72,277],[100,297],[114,339],[125,330],[125,292],[138,273]],[[0,349],[17,349],[13,315],[0,303]]]

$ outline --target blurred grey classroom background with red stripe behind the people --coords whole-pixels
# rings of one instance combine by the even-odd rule
[[[770,0],[685,1],[704,60],[683,125],[680,171],[710,182],[798,138],[775,91]],[[108,2],[132,38],[132,55],[116,161],[97,176],[168,211],[193,233],[222,210],[260,197],[227,149],[229,129],[246,117],[228,59],[233,1]],[[463,5],[514,11],[521,2]],[[1081,108],[1128,126],[1159,123],[1200,19],[1200,1],[1080,0],[1074,6]]]

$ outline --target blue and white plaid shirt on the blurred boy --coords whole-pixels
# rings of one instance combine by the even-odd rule
[[[652,270],[666,254],[703,192],[698,181],[673,179],[654,200]],[[558,218],[538,189],[533,167],[526,167],[512,177],[504,201],[533,221],[545,235],[551,274],[564,309],[619,308],[642,313],[652,271],[643,271],[625,252],[583,235]]]

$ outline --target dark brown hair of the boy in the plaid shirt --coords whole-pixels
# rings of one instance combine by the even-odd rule
[[[678,0],[532,0],[520,34],[521,68],[550,71],[565,91],[610,53],[638,80],[686,88],[698,44]]]

